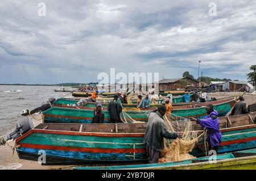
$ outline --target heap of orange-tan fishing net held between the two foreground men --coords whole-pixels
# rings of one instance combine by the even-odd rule
[[[195,148],[197,142],[205,142],[205,132],[193,131],[192,122],[178,116],[164,116],[168,128],[172,132],[183,132],[183,137],[176,140],[164,139],[164,149],[158,162],[182,161],[195,158],[189,152]]]

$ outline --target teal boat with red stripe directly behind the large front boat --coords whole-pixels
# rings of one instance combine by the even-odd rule
[[[227,102],[216,103],[213,107],[218,112],[218,116],[225,116],[235,103],[236,101],[232,99]],[[125,120],[126,117],[129,117],[134,121],[147,121],[148,114],[152,112],[152,109],[131,111],[129,108],[126,108],[126,110],[121,113],[121,118]],[[105,123],[109,123],[109,111],[106,109],[103,111],[105,113]],[[207,113],[205,112],[205,106],[177,106],[172,110],[172,115],[185,118],[203,118]],[[44,123],[91,123],[93,111],[92,108],[53,106],[43,112],[43,117]]]

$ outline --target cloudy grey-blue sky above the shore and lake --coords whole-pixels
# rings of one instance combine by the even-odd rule
[[[0,83],[91,82],[110,68],[197,78],[199,60],[200,74],[245,80],[256,64],[256,1],[13,0],[0,16]]]

